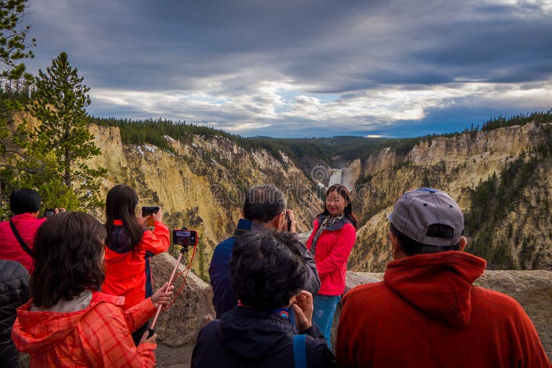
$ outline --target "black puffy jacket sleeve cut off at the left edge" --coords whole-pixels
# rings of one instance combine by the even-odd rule
[[[0,260],[0,367],[17,367],[12,343],[16,309],[29,299],[29,273],[14,260]]]

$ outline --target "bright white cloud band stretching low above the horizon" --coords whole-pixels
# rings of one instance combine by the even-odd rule
[[[237,76],[232,76],[232,79]],[[251,130],[301,122],[308,126],[331,126],[336,123],[370,126],[421,121],[428,110],[462,105],[466,108],[504,106],[513,103],[527,110],[538,109],[552,101],[552,81],[517,85],[513,83],[448,83],[419,86],[415,89],[391,85],[343,94],[323,101],[317,96],[296,90],[289,79],[259,81],[246,92],[206,79],[188,93],[181,91],[139,92],[93,90],[94,101],[112,105],[135,106],[135,117],[162,116],[186,119],[189,123],[210,121],[219,129],[248,134]],[[198,81],[199,82],[199,81]],[[199,89],[199,85],[204,85]],[[308,88],[308,86],[304,86]],[[222,94],[220,91],[224,91]],[[291,97],[290,97],[291,96]],[[295,96],[295,97],[293,97]],[[277,109],[282,109],[277,112]],[[93,111],[92,111],[93,114]]]

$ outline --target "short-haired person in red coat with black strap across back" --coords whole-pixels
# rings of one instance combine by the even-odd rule
[[[15,260],[32,274],[33,261],[30,253],[34,243],[34,234],[46,218],[38,218],[41,206],[40,194],[32,189],[22,188],[10,196],[10,211],[14,216],[0,223],[0,259]],[[65,209],[61,209],[65,210]],[[55,209],[58,213],[59,209]],[[19,234],[23,244],[19,242]]]

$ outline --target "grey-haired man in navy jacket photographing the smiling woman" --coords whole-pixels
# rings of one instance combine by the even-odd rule
[[[290,220],[289,228],[286,215]],[[230,283],[230,256],[237,238],[246,232],[264,232],[267,229],[296,232],[293,212],[286,209],[284,194],[273,185],[250,188],[246,194],[242,216],[244,218],[239,219],[233,236],[221,241],[211,258],[209,277],[213,286],[213,305],[217,318],[221,318],[226,311],[237,305],[237,297]],[[320,288],[316,263],[304,245],[301,250],[307,266],[305,289],[316,294]]]

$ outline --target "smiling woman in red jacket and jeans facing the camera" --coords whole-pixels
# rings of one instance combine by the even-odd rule
[[[357,218],[344,185],[331,185],[326,191],[326,207],[314,222],[306,247],[316,261],[320,290],[314,296],[316,322],[330,345],[333,314],[345,291],[347,260],[357,238]]]

